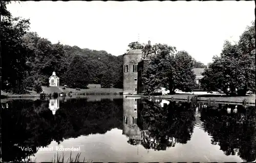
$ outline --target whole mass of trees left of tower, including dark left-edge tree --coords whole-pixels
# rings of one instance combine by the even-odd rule
[[[60,77],[60,85],[86,88],[90,83],[101,84],[107,73],[108,86],[122,88],[122,54],[116,57],[104,50],[53,44],[28,32],[29,20],[13,17],[6,8],[9,3],[1,1],[2,90],[40,90],[41,85],[49,85],[53,71]]]

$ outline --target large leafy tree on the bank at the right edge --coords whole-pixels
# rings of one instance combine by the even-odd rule
[[[247,27],[238,44],[225,41],[220,57],[203,73],[202,87],[208,92],[223,91],[227,95],[244,96],[255,91],[255,30]]]

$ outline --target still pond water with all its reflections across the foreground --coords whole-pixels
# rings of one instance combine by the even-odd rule
[[[254,106],[88,96],[2,107],[3,161],[255,160]]]

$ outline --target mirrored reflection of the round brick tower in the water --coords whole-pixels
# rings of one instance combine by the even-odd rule
[[[137,125],[138,110],[136,98],[123,98],[123,134],[133,140],[141,140]]]

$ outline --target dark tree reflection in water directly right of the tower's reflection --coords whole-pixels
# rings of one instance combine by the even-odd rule
[[[195,116],[189,103],[169,102],[163,107],[148,100],[142,103],[138,125],[143,130],[141,144],[144,148],[166,150],[176,143],[186,144],[190,140]]]

